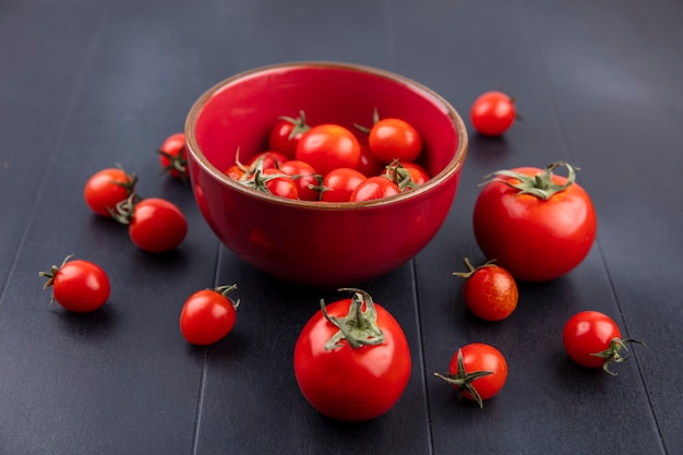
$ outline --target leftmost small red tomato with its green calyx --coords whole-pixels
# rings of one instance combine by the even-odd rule
[[[59,267],[52,265],[50,272],[39,273],[48,278],[44,289],[51,286],[52,300],[69,311],[95,311],[109,298],[109,277],[99,265],[83,260],[69,262],[71,258],[67,256]]]

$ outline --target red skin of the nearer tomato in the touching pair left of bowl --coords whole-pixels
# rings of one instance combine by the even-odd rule
[[[182,242],[188,234],[188,220],[176,204],[149,197],[135,204],[128,234],[141,250],[161,253]]]

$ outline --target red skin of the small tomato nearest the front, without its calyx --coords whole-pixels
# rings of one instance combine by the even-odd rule
[[[471,343],[463,346],[460,350],[463,351],[465,372],[492,372],[492,374],[481,376],[471,383],[481,399],[489,399],[498,395],[505,385],[505,382],[507,382],[508,370],[505,356],[495,347],[484,343]],[[451,359],[448,371],[452,374],[456,374],[458,371],[457,352]],[[475,399],[467,391],[463,392],[463,396],[467,399]]]

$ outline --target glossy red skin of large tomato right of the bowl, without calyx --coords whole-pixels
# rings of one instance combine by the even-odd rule
[[[534,176],[541,169],[513,171]],[[566,178],[554,175],[553,181],[563,184]],[[577,183],[542,200],[492,181],[475,204],[474,230],[487,258],[515,278],[547,282],[571,272],[588,255],[597,218],[589,195]]]

